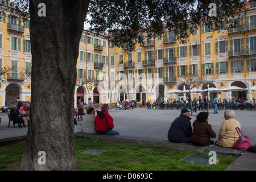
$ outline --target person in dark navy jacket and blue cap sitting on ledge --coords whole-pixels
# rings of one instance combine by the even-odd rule
[[[187,108],[181,109],[181,114],[172,122],[168,131],[168,140],[174,143],[190,142],[192,135],[191,118]]]

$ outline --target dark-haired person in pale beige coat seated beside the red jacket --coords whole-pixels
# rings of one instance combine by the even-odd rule
[[[82,122],[82,131],[87,134],[96,134],[95,110],[93,107],[86,109],[86,114]]]

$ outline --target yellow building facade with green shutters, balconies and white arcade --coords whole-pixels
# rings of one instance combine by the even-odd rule
[[[246,89],[254,86],[256,80],[256,9],[249,1],[240,16],[236,28],[224,30],[228,24],[222,22],[219,31],[201,25],[192,31],[187,43],[176,40],[173,31],[166,30],[162,36],[146,39],[134,48],[119,48],[106,34],[97,35],[84,30],[80,39],[77,59],[77,78],[97,78],[97,82],[77,84],[77,101],[110,103],[123,100],[164,101],[179,99],[178,94],[164,94],[173,89],[183,90],[179,77],[186,73],[199,72],[203,76],[217,76],[210,87],[239,86],[245,90],[216,92],[224,98],[236,96],[246,99]],[[4,9],[5,6],[2,6]],[[1,68],[15,67],[2,76],[0,103],[30,100],[31,80],[24,69],[31,70],[29,20],[11,18],[6,10],[0,20]],[[206,89],[201,85],[199,90]],[[252,91],[253,92],[253,91]],[[202,92],[193,93],[197,97]],[[205,94],[205,93],[204,93]],[[251,93],[254,98],[254,92]],[[203,95],[204,97],[204,95]]]

